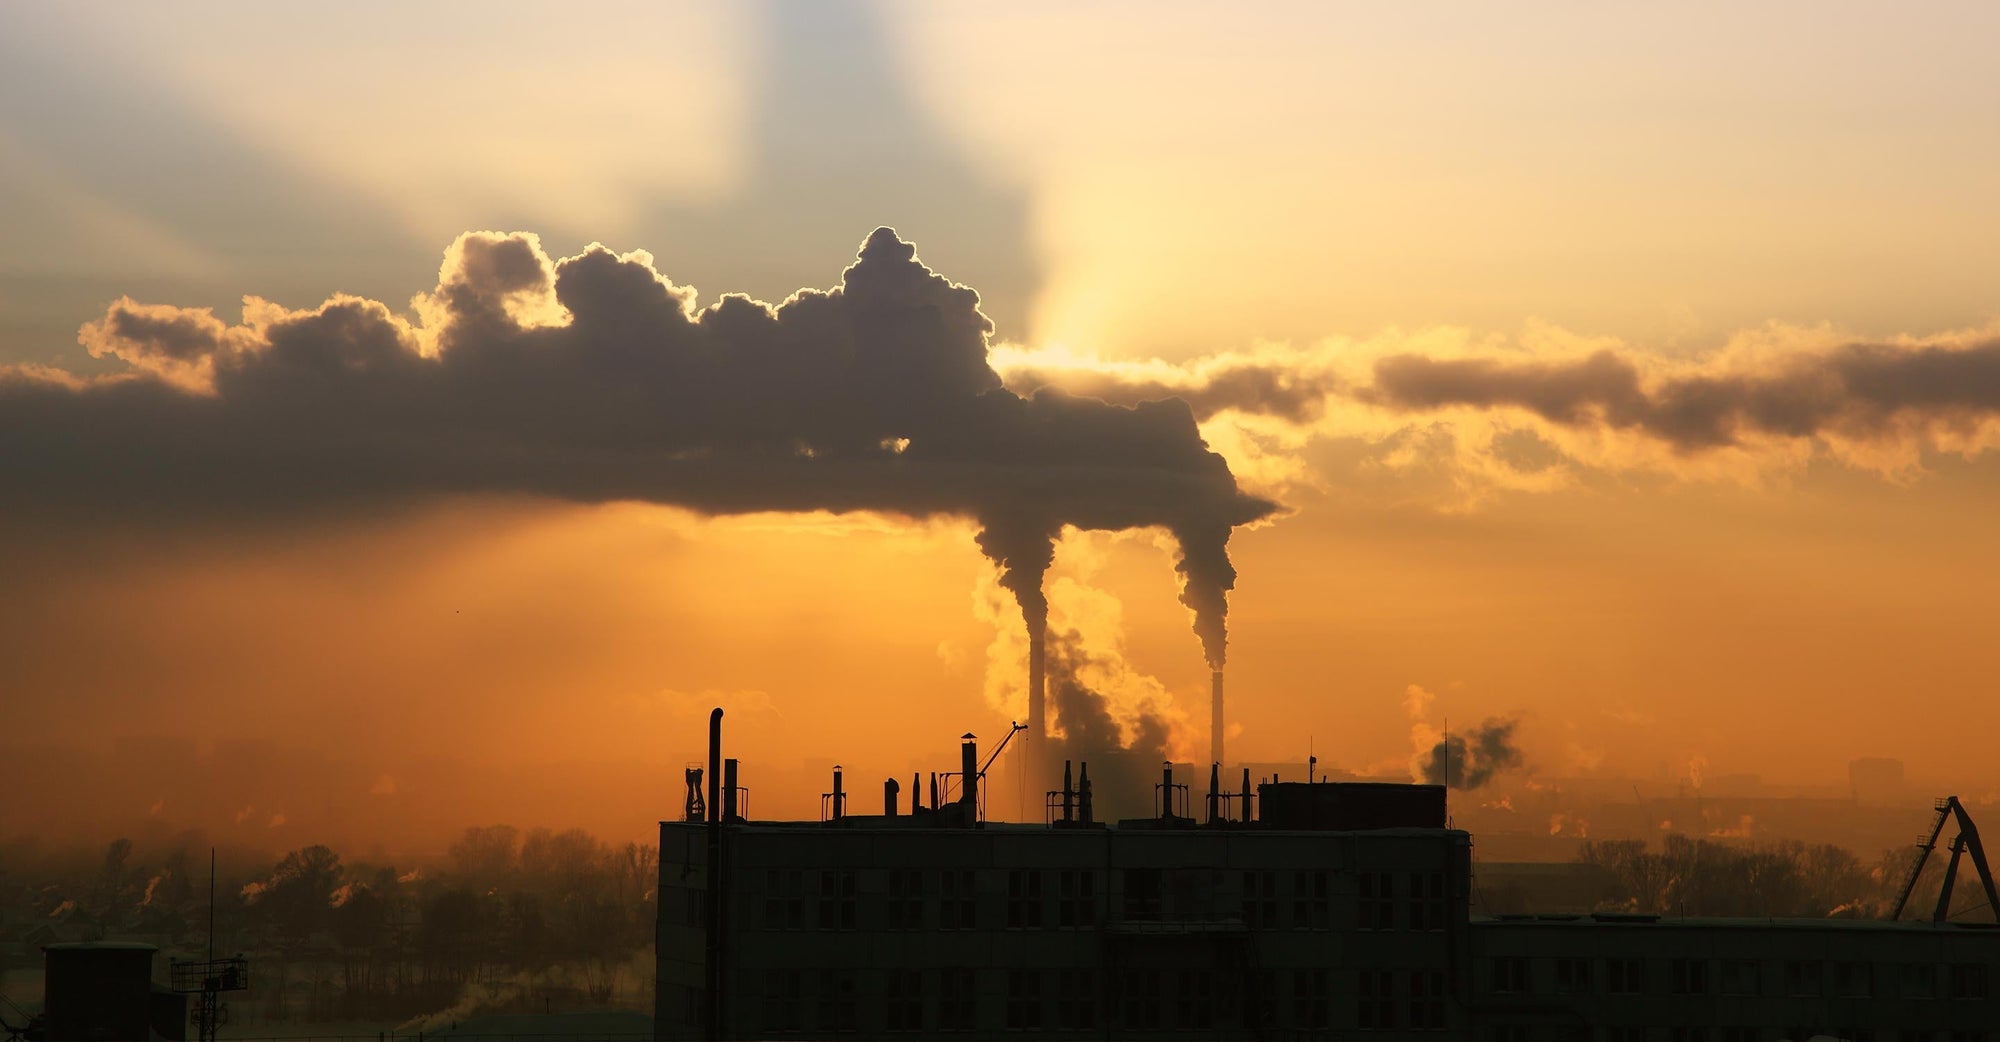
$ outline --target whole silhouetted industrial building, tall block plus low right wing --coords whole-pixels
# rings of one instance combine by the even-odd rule
[[[660,826],[658,1038],[1992,1042],[2000,1024],[1994,924],[1472,918],[1472,836],[1440,786],[1244,770],[1224,792],[1212,768],[1190,792],[1168,768],[1150,818],[1100,822],[1066,766],[1044,824],[1000,824],[968,736],[908,806],[890,780],[850,812],[836,774],[822,820],[752,822],[718,724],[710,764]]]

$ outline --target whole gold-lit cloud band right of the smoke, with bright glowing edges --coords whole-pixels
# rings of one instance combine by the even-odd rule
[[[1178,396],[1240,476],[1278,494],[1336,480],[1304,462],[1330,440],[1412,484],[1448,478],[1456,506],[1590,472],[1756,484],[1832,458],[1900,478],[1926,452],[2000,446],[2000,328],[1860,340],[1772,324],[1662,358],[1530,322],[1512,338],[1388,330],[1188,362],[1004,348],[996,366],[1018,390]]]

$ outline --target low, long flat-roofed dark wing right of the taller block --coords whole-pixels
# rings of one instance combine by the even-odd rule
[[[1992,1042],[1992,922],[1472,922],[1482,1042]]]

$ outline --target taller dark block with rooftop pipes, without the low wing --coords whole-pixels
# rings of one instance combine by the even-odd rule
[[[656,1036],[704,1038],[716,996],[720,1038],[1462,1032],[1470,838],[1444,790],[1256,792],[1252,820],[1238,792],[1200,822],[1100,824],[1084,780],[1042,826],[978,820],[976,784],[900,814],[890,790],[884,814],[840,794],[822,822],[746,822],[724,798],[724,820],[662,822]]]

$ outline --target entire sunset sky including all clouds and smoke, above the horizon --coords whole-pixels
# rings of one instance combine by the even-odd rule
[[[1180,760],[1226,590],[1230,760],[2000,788],[1996,30],[8,4],[0,832],[644,836],[714,704],[810,816],[1026,718],[1042,536]]]

